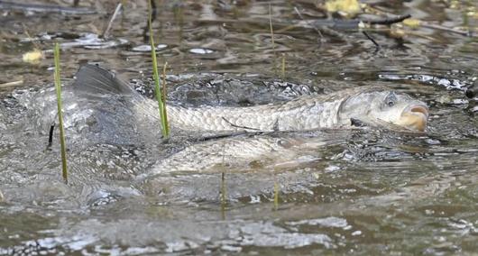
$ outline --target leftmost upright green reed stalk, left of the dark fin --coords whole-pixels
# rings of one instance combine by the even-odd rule
[[[65,183],[68,183],[67,169],[67,143],[65,141],[65,128],[63,127],[63,113],[61,111],[61,81],[60,81],[60,44],[55,43],[55,89],[57,91],[58,123],[60,123],[60,145],[61,145],[61,169]]]

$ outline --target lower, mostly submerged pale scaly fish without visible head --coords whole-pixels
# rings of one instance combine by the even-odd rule
[[[159,160],[138,176],[157,178],[175,172],[291,169],[321,159],[319,148],[344,143],[351,130],[299,133],[247,133],[199,142]]]

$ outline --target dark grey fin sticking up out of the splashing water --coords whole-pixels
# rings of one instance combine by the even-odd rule
[[[75,76],[73,88],[79,94],[91,96],[135,94],[133,87],[117,78],[115,73],[97,65],[87,64],[81,67]]]

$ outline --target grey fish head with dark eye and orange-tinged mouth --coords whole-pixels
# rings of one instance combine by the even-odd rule
[[[392,123],[419,132],[427,127],[427,105],[407,94],[391,90],[366,92],[348,98],[347,105],[354,118]]]

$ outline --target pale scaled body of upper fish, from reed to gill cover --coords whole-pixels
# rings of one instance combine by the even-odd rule
[[[196,108],[168,105],[167,111],[171,126],[186,130],[309,130],[335,128],[340,103],[339,100],[324,102],[315,96],[282,105]]]

